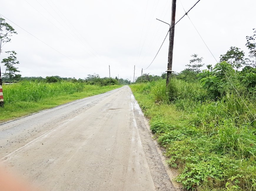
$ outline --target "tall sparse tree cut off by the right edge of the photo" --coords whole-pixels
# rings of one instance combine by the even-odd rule
[[[249,51],[249,57],[251,59],[247,59],[248,61],[248,65],[252,66],[252,67],[256,67],[256,42],[255,42],[255,38],[256,38],[256,29],[252,29],[254,30],[254,34],[252,36],[247,36],[246,37],[246,41],[247,43],[245,44],[247,46],[247,48],[250,50]]]

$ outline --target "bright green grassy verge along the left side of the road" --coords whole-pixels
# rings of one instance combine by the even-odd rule
[[[73,100],[105,93],[121,86],[96,86],[83,83],[37,83],[24,81],[4,85],[4,108],[0,108],[0,122],[53,108]]]

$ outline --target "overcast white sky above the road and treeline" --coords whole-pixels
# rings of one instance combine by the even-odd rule
[[[196,2],[177,0],[176,21],[184,15],[182,4],[188,11]],[[111,77],[133,81],[134,65],[138,77],[162,44],[169,26],[156,18],[170,23],[171,6],[171,0],[1,0],[0,14],[18,33],[2,52],[16,51],[22,76],[105,77],[110,65]],[[255,0],[201,0],[188,15],[219,60],[230,46],[248,52],[245,37],[256,28],[255,10]],[[143,73],[166,71],[168,46],[169,38]],[[175,26],[172,69],[182,71],[192,54],[216,64],[186,16]]]

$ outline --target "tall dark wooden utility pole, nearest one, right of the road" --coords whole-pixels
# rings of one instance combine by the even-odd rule
[[[173,42],[174,42],[174,25],[175,25],[175,13],[176,13],[176,0],[172,0],[172,23],[169,36],[169,54],[168,54],[168,66],[167,66],[167,78],[166,85],[169,84],[172,75],[172,54],[173,54]]]

